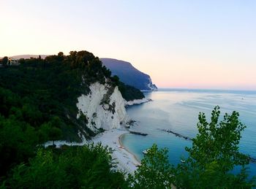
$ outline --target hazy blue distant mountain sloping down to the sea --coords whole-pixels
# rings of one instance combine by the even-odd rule
[[[117,75],[125,84],[140,90],[157,90],[157,86],[151,82],[150,76],[135,69],[131,63],[113,58],[100,58],[100,60],[113,75]]]

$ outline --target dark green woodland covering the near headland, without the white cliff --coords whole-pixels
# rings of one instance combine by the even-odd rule
[[[130,89],[110,75],[99,58],[87,51],[20,59],[18,66],[4,64],[0,68],[0,177],[34,157],[38,144],[58,139],[81,142],[78,133],[94,136],[85,119],[76,119],[78,96],[89,93],[93,82],[108,82],[130,97]]]

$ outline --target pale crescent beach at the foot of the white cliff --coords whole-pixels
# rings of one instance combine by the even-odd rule
[[[132,174],[137,169],[137,166],[140,165],[140,162],[120,142],[121,136],[127,133],[129,131],[112,129],[98,134],[91,141],[96,144],[101,142],[103,146],[110,147],[113,150],[112,157],[117,162],[117,169]]]

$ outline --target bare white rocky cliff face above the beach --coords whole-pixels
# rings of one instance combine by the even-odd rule
[[[82,94],[78,97],[77,118],[83,116],[91,131],[99,131],[99,128],[119,128],[120,124],[127,123],[124,99],[118,87],[95,82],[90,85],[90,90],[88,95]]]

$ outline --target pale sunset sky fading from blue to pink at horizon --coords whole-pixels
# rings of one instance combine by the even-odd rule
[[[256,90],[256,1],[0,0],[0,57],[88,50],[159,88]]]

